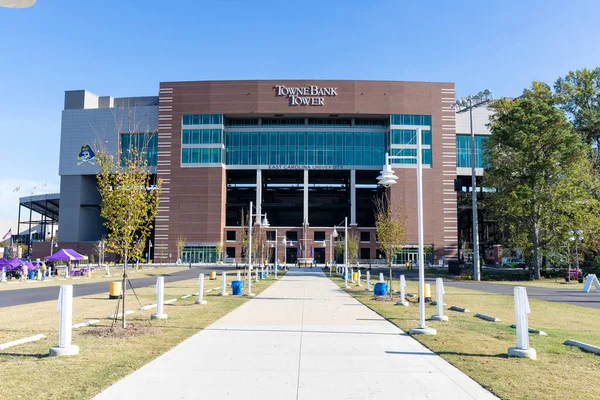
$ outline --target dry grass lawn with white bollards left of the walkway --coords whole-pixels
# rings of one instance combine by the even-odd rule
[[[228,273],[231,280],[235,271]],[[284,271],[279,272],[283,276]],[[256,294],[275,282],[272,278],[252,285]],[[219,288],[220,279],[206,281],[205,288]],[[0,343],[38,333],[48,337],[38,342],[11,347],[0,352],[0,398],[2,399],[88,399],[125,377],[183,340],[209,326],[246,301],[246,297],[219,296],[218,290],[205,294],[207,305],[196,305],[196,297],[181,296],[198,291],[197,279],[165,284],[168,319],[150,321],[156,309],[139,311],[139,303],[128,291],[126,309],[136,310],[128,320],[141,328],[152,326],[154,334],[128,337],[98,337],[110,326],[108,314],[115,310],[116,300],[108,300],[108,292],[75,298],[73,323],[100,319],[98,326],[73,331],[73,343],[80,347],[74,357],[48,357],[48,350],[58,343],[56,301],[0,308]],[[156,302],[154,287],[136,290],[142,304]],[[119,321],[120,322],[120,321]]]

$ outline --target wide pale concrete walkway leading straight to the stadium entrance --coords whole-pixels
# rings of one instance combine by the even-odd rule
[[[199,398],[495,399],[315,269],[292,269],[97,396]]]

